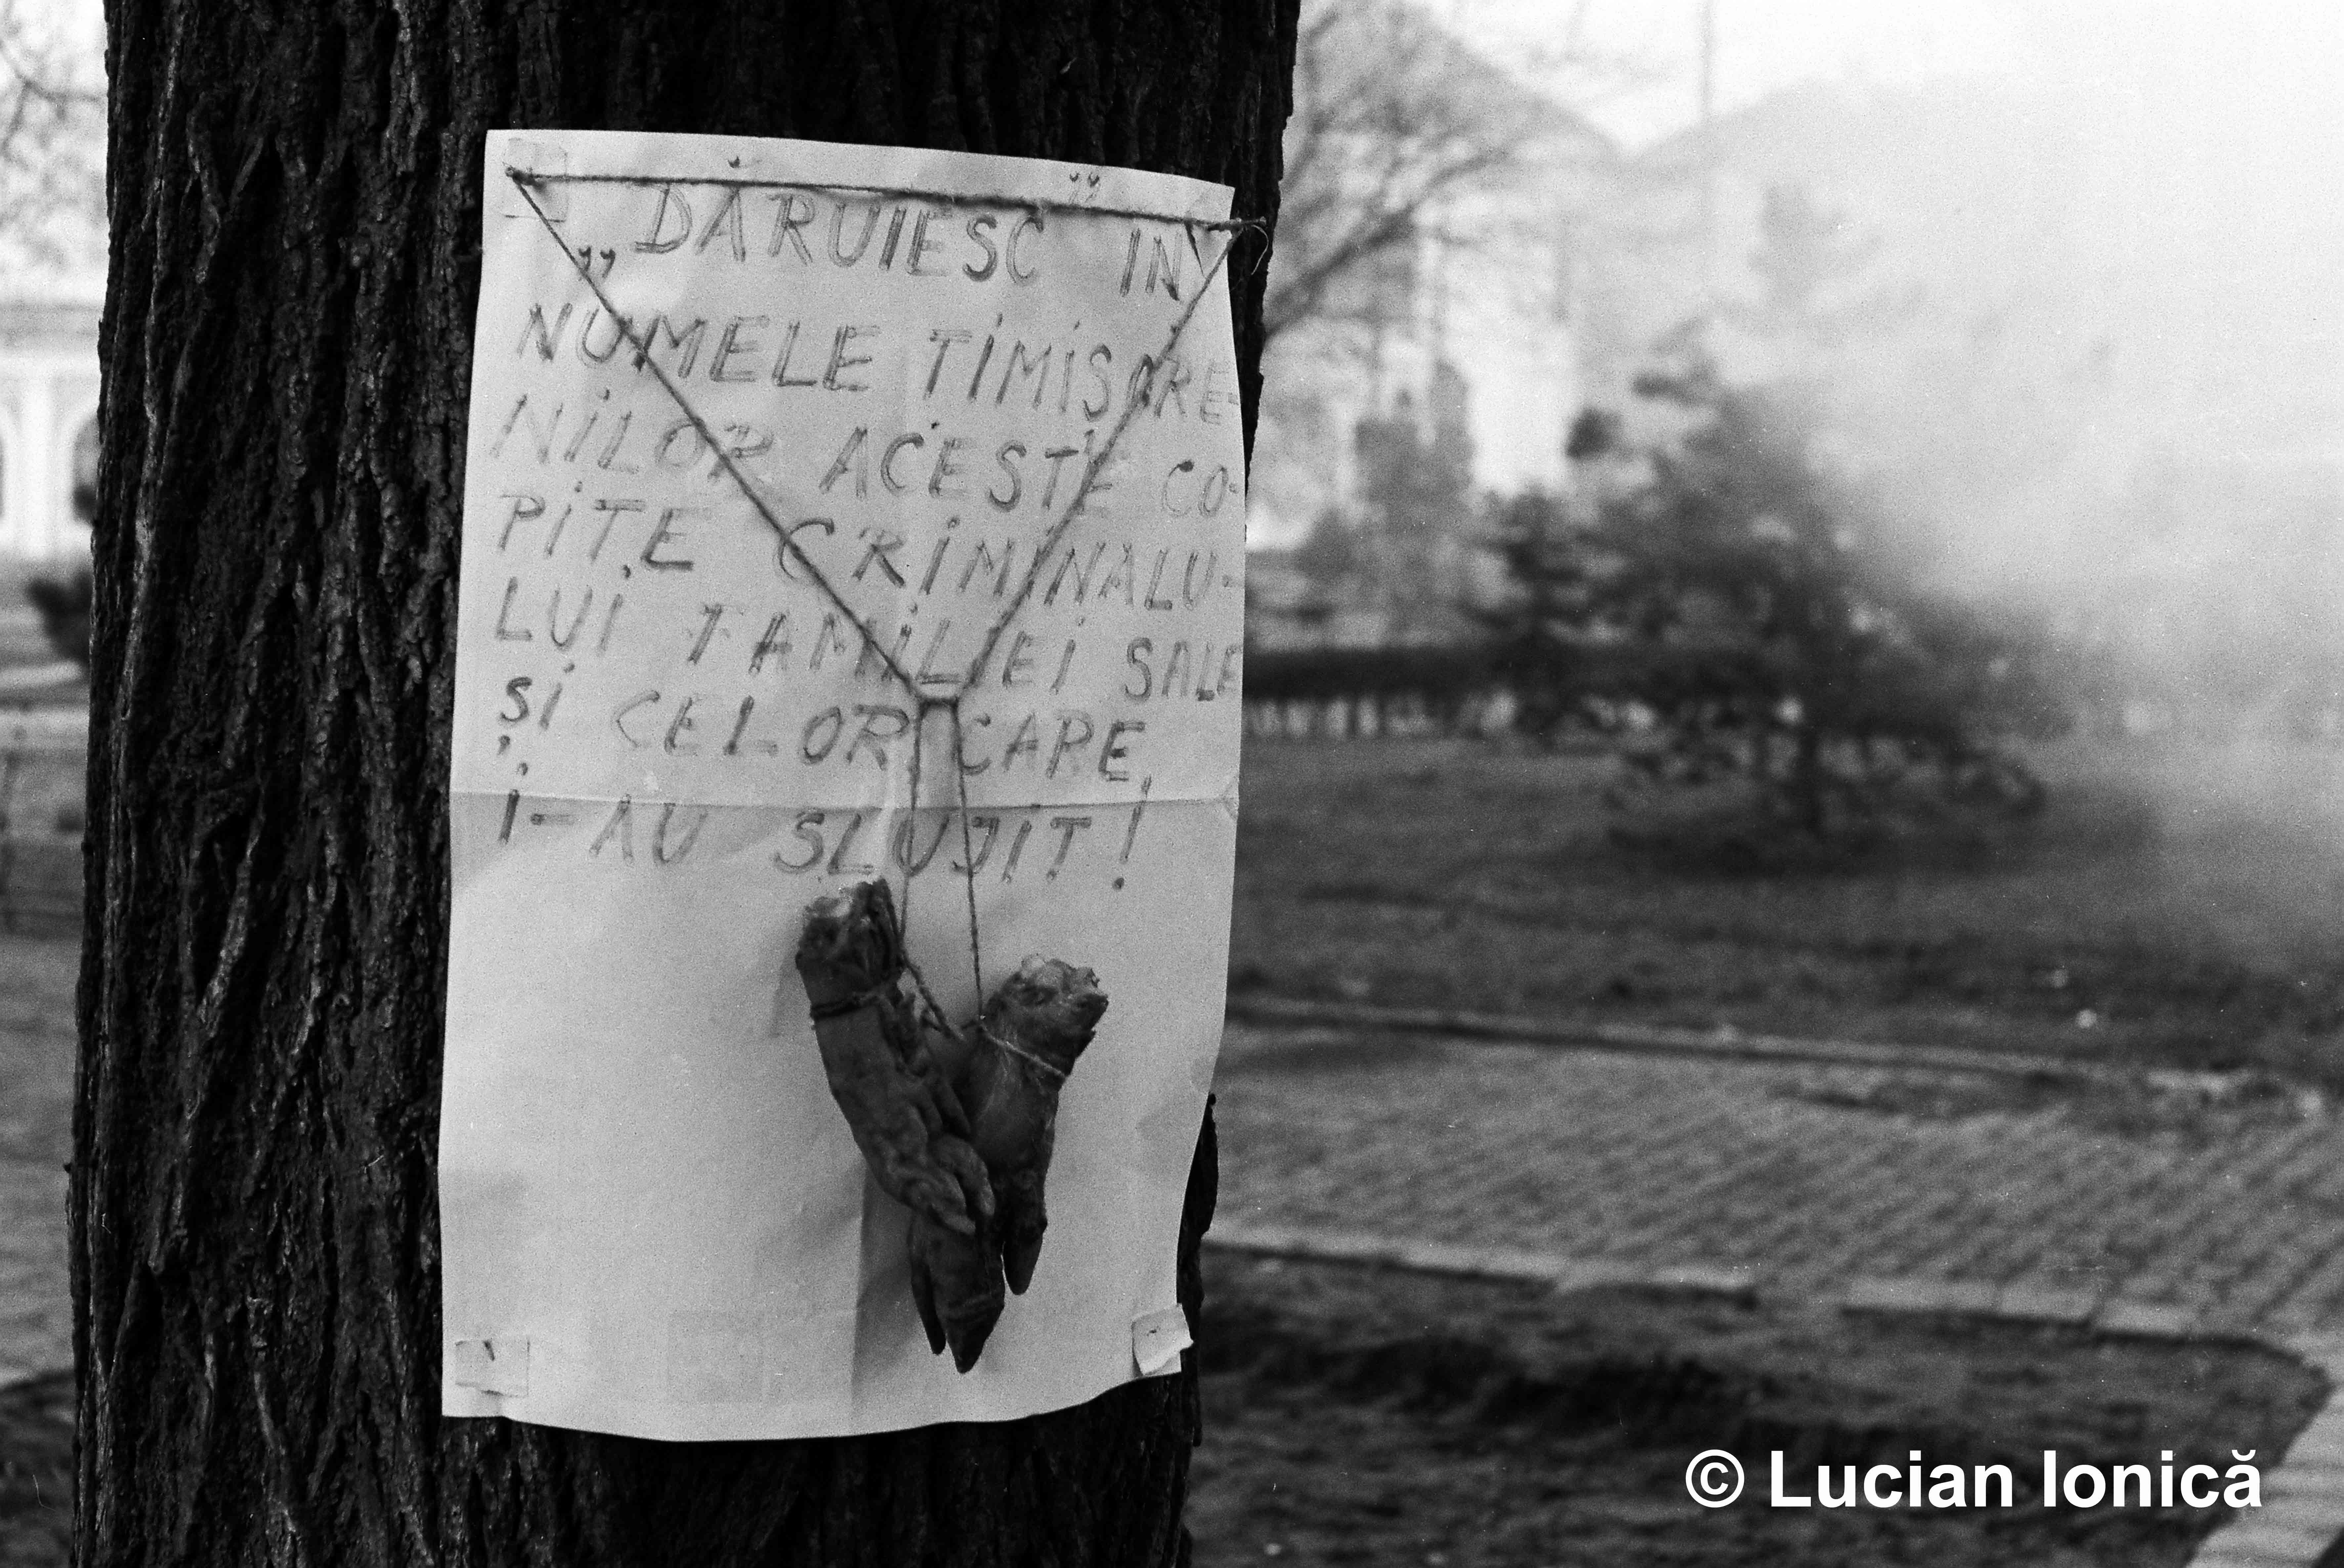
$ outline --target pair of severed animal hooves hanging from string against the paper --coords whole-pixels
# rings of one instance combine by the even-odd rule
[[[1024,1294],[1050,1223],[1057,1090],[1106,1013],[1088,968],[1027,959],[961,1029],[924,1017],[884,881],[806,907],[797,975],[830,1095],[888,1198],[912,1209],[928,1350],[977,1364],[1003,1280]]]

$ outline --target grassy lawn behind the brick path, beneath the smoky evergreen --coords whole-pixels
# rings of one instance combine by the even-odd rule
[[[2032,764],[2037,818],[1819,853],[1610,809],[1603,757],[1249,738],[1231,987],[2344,1088],[2344,755]]]

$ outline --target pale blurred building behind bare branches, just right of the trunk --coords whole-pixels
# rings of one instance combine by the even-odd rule
[[[1474,103],[1477,127],[1517,124],[1531,141],[1507,148],[1521,157],[1503,178],[1444,190],[1399,244],[1343,272],[1306,319],[1273,338],[1247,520],[1252,626],[1266,645],[1446,635],[1437,612],[1470,593],[1479,570],[1470,548],[1479,497],[1566,483],[1563,436],[1582,403],[1587,234],[1615,150],[1420,9],[1406,12],[1406,26],[1413,54],[1439,56],[1432,70],[1449,101]],[[1369,28],[1352,47],[1378,45],[1390,49],[1388,35]],[[1390,68],[1376,56],[1348,66],[1360,77]],[[1456,136],[1451,127],[1399,134]],[[1289,162],[1292,138],[1289,129]],[[1376,157],[1357,162],[1371,183]],[[1390,518],[1378,518],[1371,488],[1378,473],[1390,478],[1395,452],[1376,443],[1463,462],[1467,478],[1449,516],[1427,523],[1418,506],[1406,539],[1378,537],[1390,534]],[[1331,539],[1334,530],[1350,541]]]

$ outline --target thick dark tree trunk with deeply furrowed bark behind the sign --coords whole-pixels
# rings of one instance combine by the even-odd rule
[[[481,136],[924,143],[1273,218],[1294,0],[113,0],[77,1559],[1165,1563],[1195,1371],[823,1444],[438,1418]],[[1259,237],[1240,248],[1247,438]],[[1181,1235],[1212,1214],[1207,1120]]]

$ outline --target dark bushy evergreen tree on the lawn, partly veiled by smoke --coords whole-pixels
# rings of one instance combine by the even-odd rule
[[[1831,338],[1882,309],[1842,302],[1861,251],[1803,197],[1770,199],[1753,258],[1770,330]],[[1547,497],[1498,513],[1526,729],[1608,727],[1634,778],[1749,780],[1810,834],[1875,823],[1917,783],[2039,804],[1997,741],[2060,724],[2042,640],[1924,586],[1922,541],[1819,457],[1812,384],[1728,384],[1697,328],[1664,356],[1636,391],[1676,410],[1676,434],[1641,452],[1641,483],[1578,523]],[[1603,422],[1573,429],[1580,459],[1617,443]]]

